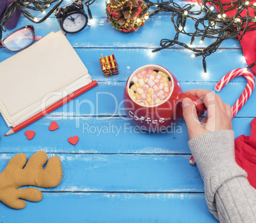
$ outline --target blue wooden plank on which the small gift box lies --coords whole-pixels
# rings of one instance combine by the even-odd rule
[[[11,57],[14,53],[0,49],[0,62]],[[159,64],[178,78],[181,82],[194,81],[219,81],[227,72],[239,67],[246,67],[245,58],[241,50],[217,50],[206,59],[207,74],[203,72],[202,58],[191,58],[188,50],[162,50],[151,53],[150,49],[114,49],[114,48],[75,48],[83,64],[89,70],[90,75],[97,81],[126,81],[131,73],[145,64]],[[101,71],[99,58],[114,54],[118,64],[118,75],[105,78]],[[225,60],[225,63],[220,63]],[[217,65],[218,63],[218,65]],[[236,78],[234,82],[246,81],[244,78]]]

